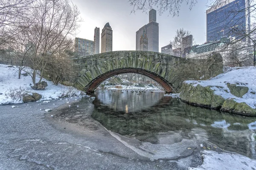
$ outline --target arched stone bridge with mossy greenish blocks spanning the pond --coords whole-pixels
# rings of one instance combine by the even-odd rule
[[[207,59],[186,59],[151,51],[112,51],[74,60],[79,67],[74,86],[87,93],[93,92],[109,77],[124,73],[145,75],[158,82],[166,92],[177,93],[184,80],[196,79],[193,74],[214,77],[223,69],[220,54]]]

